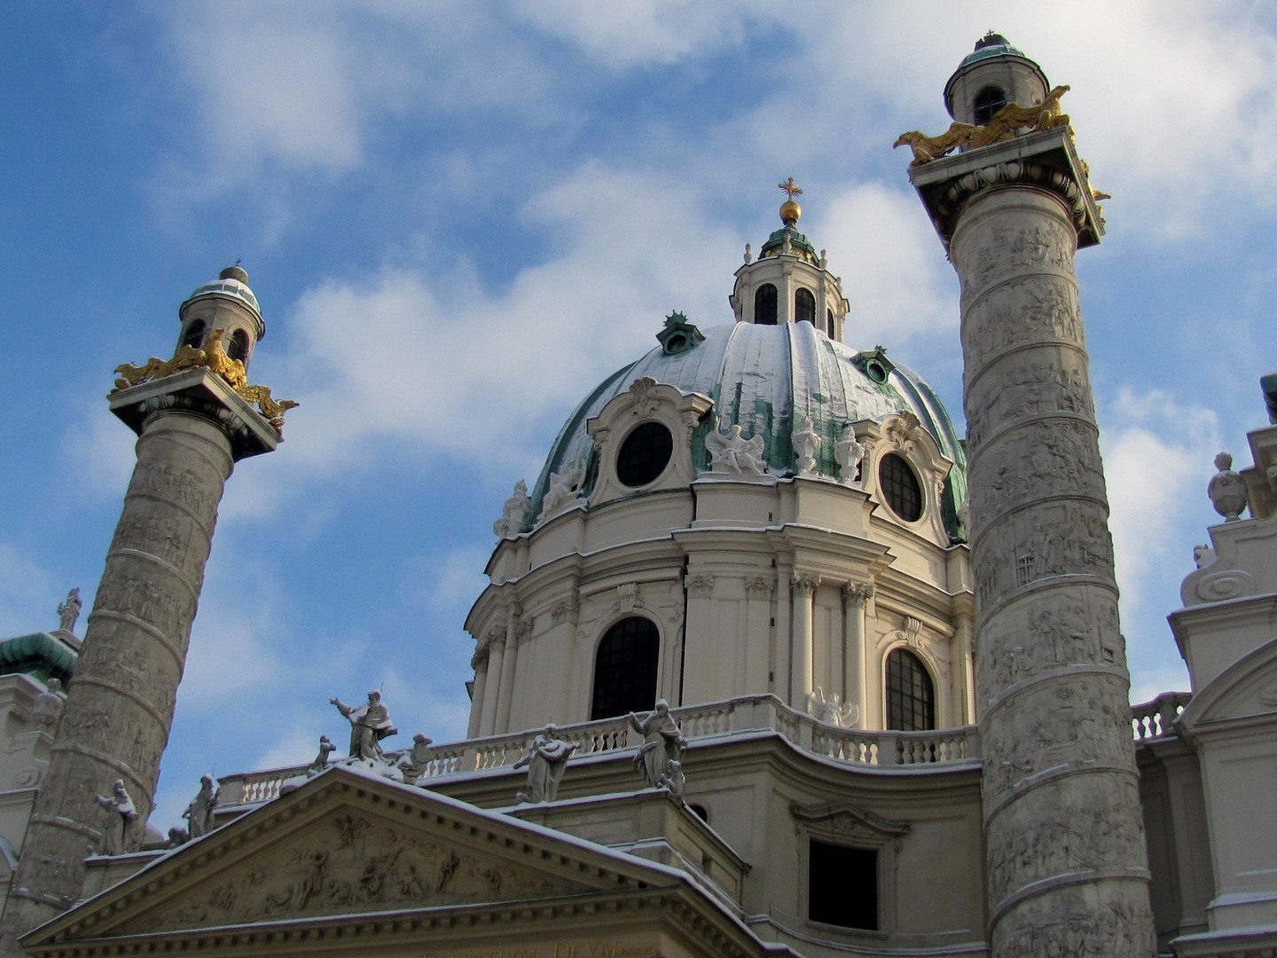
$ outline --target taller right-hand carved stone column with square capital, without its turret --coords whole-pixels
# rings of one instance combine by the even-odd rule
[[[911,174],[962,282],[988,936],[995,958],[1148,958],[1129,676],[1073,266],[1102,220],[1069,129],[1043,107],[1013,109],[1047,128]]]

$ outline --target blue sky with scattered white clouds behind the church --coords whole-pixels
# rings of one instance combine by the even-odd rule
[[[1107,201],[1078,259],[1137,699],[1186,687],[1179,604],[1221,448],[1277,369],[1277,17],[1263,3],[17,0],[0,63],[0,632],[86,605],[133,462],[111,370],[169,355],[238,258],[252,379],[301,401],[227,485],[165,756],[309,760],[373,686],[461,737],[492,521],[661,318],[730,321],[794,176],[802,229],[960,416],[956,280],[891,151],[988,28],[1071,84]],[[1101,26],[1102,24],[1102,26]]]

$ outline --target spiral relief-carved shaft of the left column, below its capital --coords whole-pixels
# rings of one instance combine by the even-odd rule
[[[79,898],[84,856],[89,847],[101,849],[107,824],[94,796],[124,782],[138,809],[134,843],[151,814],[217,503],[234,461],[226,433],[185,411],[153,414],[137,455],[23,842],[5,911],[6,948]]]

